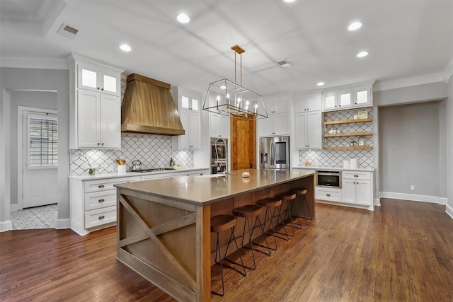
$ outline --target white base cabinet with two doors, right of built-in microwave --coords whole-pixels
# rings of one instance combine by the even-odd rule
[[[343,202],[372,205],[372,173],[343,171]]]

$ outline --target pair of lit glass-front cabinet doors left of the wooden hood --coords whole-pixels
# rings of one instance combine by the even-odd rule
[[[120,95],[120,76],[117,71],[96,64],[80,63],[78,87],[112,95]]]

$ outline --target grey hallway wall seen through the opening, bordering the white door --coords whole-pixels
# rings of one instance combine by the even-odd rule
[[[57,110],[57,93],[48,91],[11,91],[11,204],[18,203],[18,152],[17,149],[17,131],[18,131],[18,106],[26,106],[30,108],[42,108]]]

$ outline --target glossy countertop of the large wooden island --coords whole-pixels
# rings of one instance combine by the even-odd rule
[[[243,178],[243,171],[248,171],[250,177]],[[231,173],[226,175],[180,176],[178,178],[127,182],[115,185],[115,187],[204,204],[305,178],[309,175],[314,175],[314,173],[314,170],[244,169],[231,171]]]

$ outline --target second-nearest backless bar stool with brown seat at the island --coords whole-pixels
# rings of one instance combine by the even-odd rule
[[[263,235],[263,238],[264,238],[264,241],[266,243],[266,248],[268,248],[268,252],[263,252],[262,250],[257,250],[258,252],[263,252],[263,254],[265,255],[270,255],[270,248],[269,248],[269,245],[268,245],[268,240],[266,240],[266,236],[264,235],[264,228],[263,228],[263,225],[261,224],[261,221],[260,221],[260,214],[262,212],[262,208],[256,204],[248,204],[246,206],[242,206],[242,207],[237,207],[235,209],[233,209],[233,215],[236,216],[236,217],[243,217],[246,219],[246,221],[244,221],[243,223],[243,230],[242,230],[242,243],[241,243],[241,246],[243,246],[243,238],[246,234],[246,224],[247,224],[247,227],[248,227],[248,243],[250,243],[250,247],[251,247],[251,250],[252,250],[252,257],[253,257],[253,267],[247,267],[248,269],[256,269],[256,262],[255,262],[255,253],[254,253],[254,249],[253,249],[253,239],[252,239],[252,235],[253,235],[253,231],[255,231],[255,228],[257,227],[256,226],[256,223],[258,221],[258,226],[261,228],[261,234]],[[250,219],[253,219],[255,218],[255,222],[253,223],[253,228],[250,227]]]

